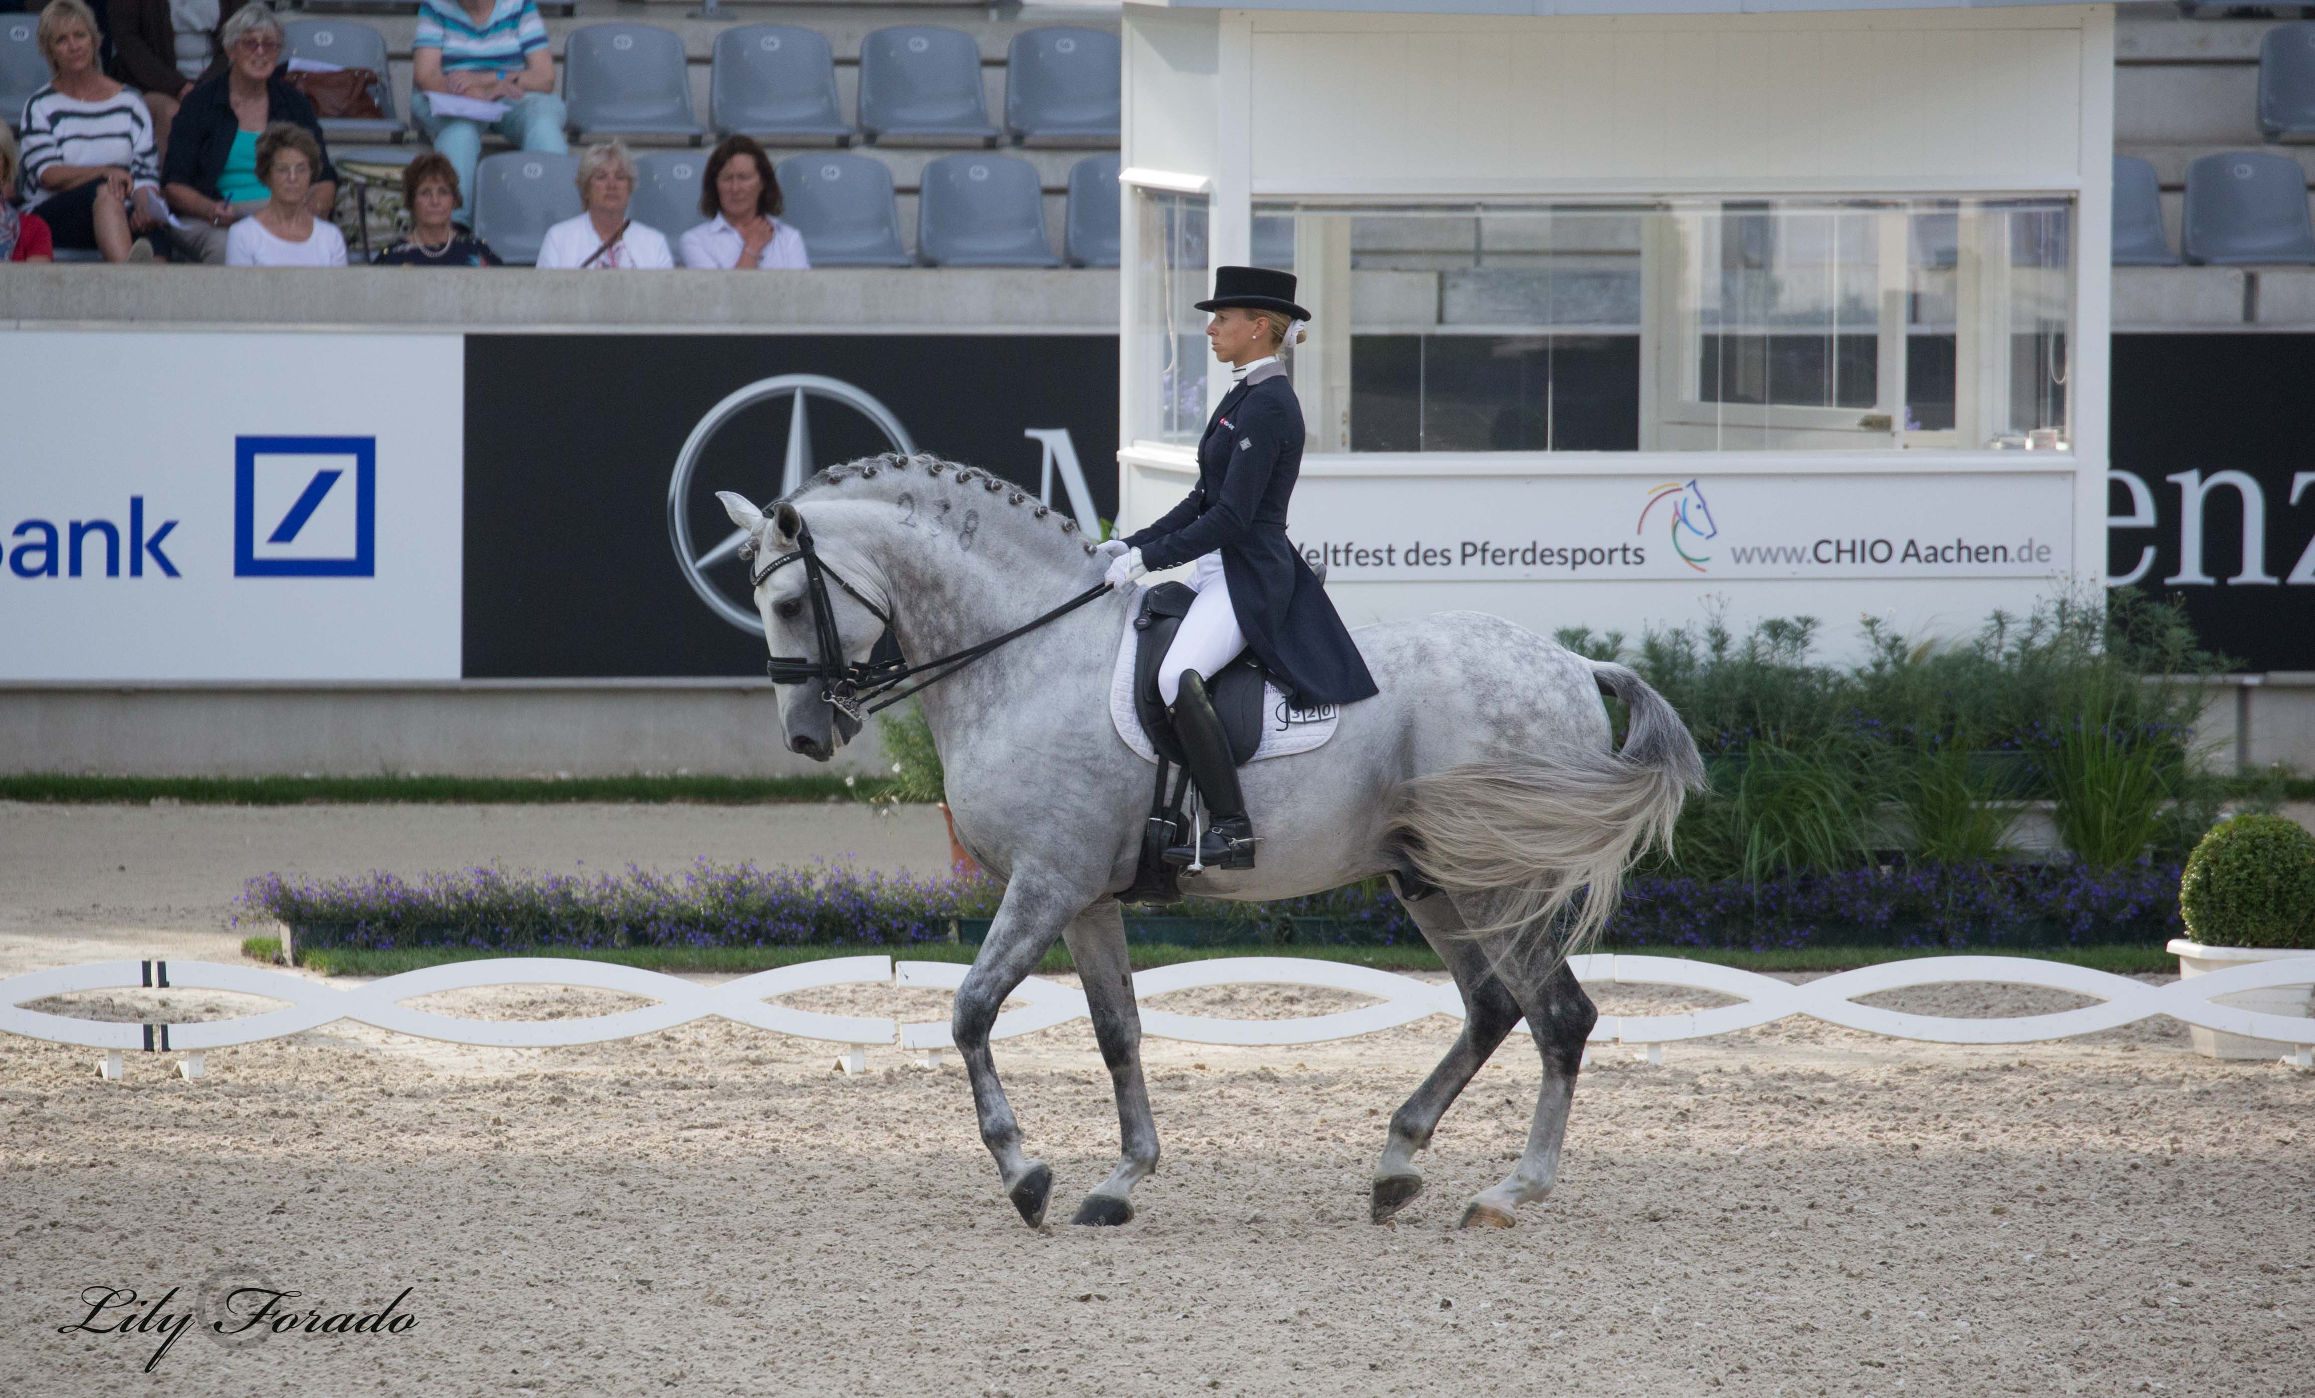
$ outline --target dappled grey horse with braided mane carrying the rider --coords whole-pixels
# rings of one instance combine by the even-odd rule
[[[1009,632],[1102,581],[1076,523],[982,470],[884,456],[820,472],[771,514],[725,493],[757,558],[799,551],[810,528],[836,639],[863,662],[891,618],[914,660]],[[803,567],[759,569],[755,604],[773,655],[815,655]],[[859,595],[854,595],[854,590]],[[1116,734],[1109,680],[1130,595],[1035,630],[924,692],[947,773],[956,836],[1005,900],[956,993],[956,1048],[972,1079],[982,1139],[1030,1227],[1053,1173],[1021,1150],[1021,1127],[989,1053],[998,1007],[1067,940],[1118,1095],[1123,1155],[1074,1222],[1132,1217],[1132,1187],[1158,1169],[1141,1079],[1141,1018],[1116,893],[1127,889],[1148,815],[1151,768]],[[1669,838],[1704,764],[1678,715],[1639,676],[1583,660],[1507,620],[1449,611],[1357,632],[1382,694],[1343,708],[1315,752],[1243,771],[1259,815],[1259,868],[1208,870],[1213,898],[1292,898],[1391,875],[1438,949],[1468,1014],[1454,1048],[1391,1116],[1375,1167],[1373,1217],[1421,1192],[1414,1153],[1456,1092],[1521,1016],[1544,1083],[1519,1167],[1482,1190],[1463,1224],[1509,1227],[1558,1173],[1590,998],[1565,956],[1607,919],[1623,870]],[[843,727],[817,685],[782,685],[792,750],[829,759]],[[1600,694],[1630,706],[1614,750]],[[1410,880],[1408,870],[1419,875]],[[1435,884],[1424,893],[1424,882]],[[1442,891],[1438,891],[1442,889]],[[1588,896],[1577,896],[1588,889]]]

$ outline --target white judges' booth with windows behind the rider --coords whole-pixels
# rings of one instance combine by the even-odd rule
[[[1838,5],[1838,0],[1833,0]],[[1292,268],[1292,537],[1352,625],[1871,613],[2104,574],[2114,12],[1125,5],[1120,523]]]

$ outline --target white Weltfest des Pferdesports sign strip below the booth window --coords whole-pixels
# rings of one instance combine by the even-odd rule
[[[2051,579],[2074,474],[1306,474],[1292,535],[1329,581]]]

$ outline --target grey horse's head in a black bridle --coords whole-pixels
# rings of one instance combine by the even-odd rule
[[[780,500],[771,514],[764,514],[745,495],[732,491],[718,491],[715,498],[722,500],[732,523],[748,532],[750,549],[745,553],[755,579],[755,609],[764,618],[764,643],[771,657],[792,667],[796,662],[824,664],[831,660],[826,650],[833,637],[833,650],[845,664],[866,662],[884,634],[884,618],[891,616],[889,599],[880,599],[870,609],[873,604],[854,593],[854,588],[873,586],[870,569],[861,567],[861,560],[836,539],[815,539],[813,553],[822,560],[822,572],[833,572],[831,581],[838,583],[815,588],[813,569],[792,567],[806,537],[803,512]],[[829,701],[829,687],[822,680],[780,683],[778,674],[773,680],[789,752],[826,761],[859,734],[859,720]]]

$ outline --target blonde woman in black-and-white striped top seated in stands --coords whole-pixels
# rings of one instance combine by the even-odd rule
[[[153,111],[97,69],[97,16],[81,0],[49,0],[39,12],[39,56],[49,86],[23,104],[25,208],[39,211],[58,248],[150,262],[144,234],[169,215]]]

